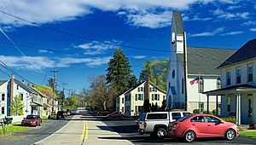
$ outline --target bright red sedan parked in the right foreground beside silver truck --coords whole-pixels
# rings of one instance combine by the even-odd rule
[[[168,126],[168,136],[184,138],[187,142],[200,137],[225,137],[233,140],[238,136],[238,131],[235,124],[209,114],[185,116]]]

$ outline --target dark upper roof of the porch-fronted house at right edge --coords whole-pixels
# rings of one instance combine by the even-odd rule
[[[256,57],[256,38],[244,44],[235,54],[225,60],[219,67],[230,66],[234,63],[246,61]]]

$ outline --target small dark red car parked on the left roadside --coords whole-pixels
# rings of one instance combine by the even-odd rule
[[[39,115],[27,115],[26,118],[24,118],[21,121],[21,125],[29,125],[29,126],[41,126],[42,119]]]

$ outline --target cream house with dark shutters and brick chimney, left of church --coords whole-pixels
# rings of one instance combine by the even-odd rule
[[[162,102],[166,100],[166,91],[161,90],[158,86],[150,81],[143,81],[141,84],[126,91],[124,103],[119,104],[120,107],[125,106],[125,115],[138,115],[143,112],[143,103],[148,98],[150,104],[161,107]],[[123,95],[120,97],[123,101]]]

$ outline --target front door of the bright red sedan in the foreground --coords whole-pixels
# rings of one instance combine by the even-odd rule
[[[207,134],[210,136],[223,136],[224,135],[224,124],[221,123],[221,120],[213,117],[213,116],[206,116],[207,120]]]

